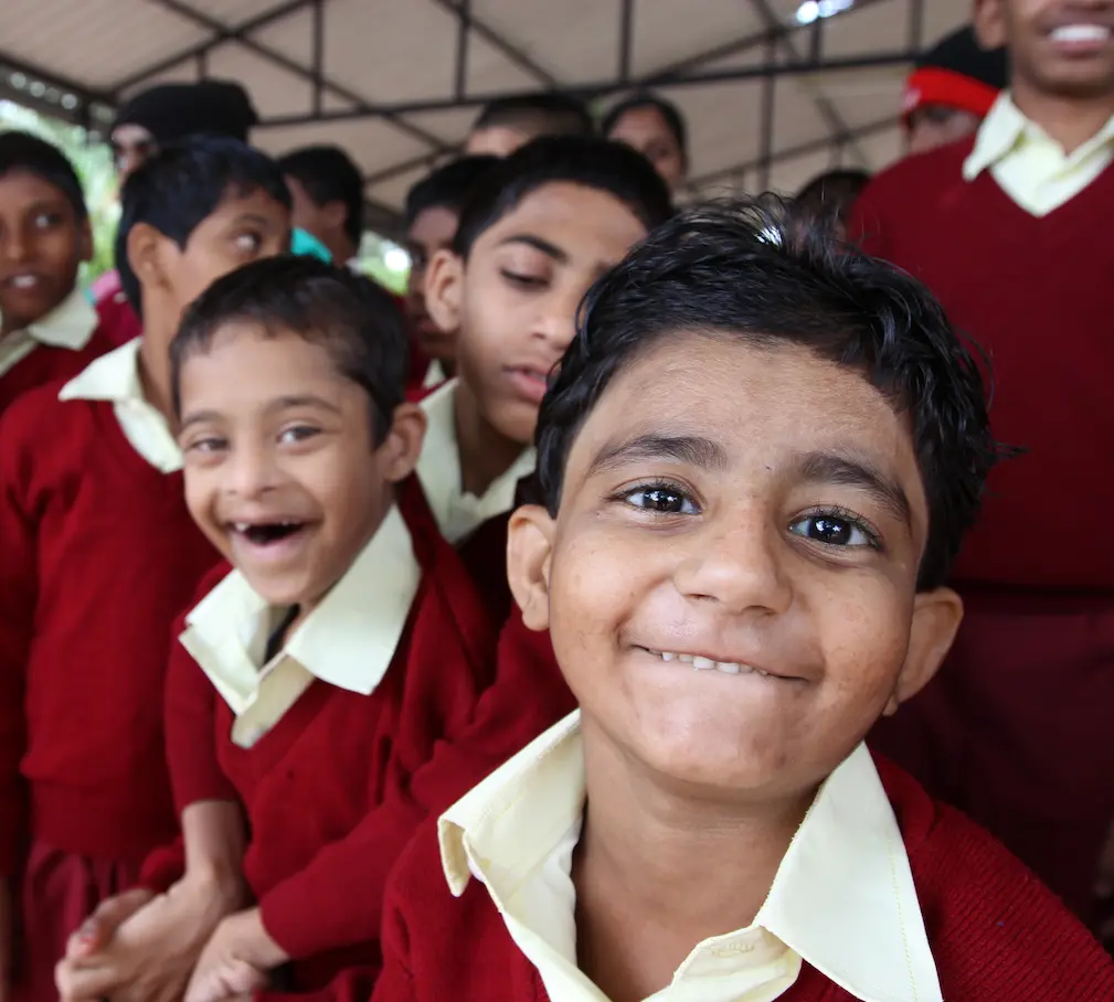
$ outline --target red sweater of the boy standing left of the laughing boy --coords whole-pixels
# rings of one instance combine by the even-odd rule
[[[59,389],[0,420],[2,874],[28,837],[139,861],[173,836],[170,625],[217,560],[180,473],[145,462],[111,404]]]

